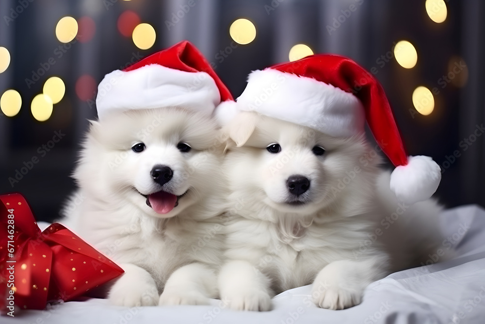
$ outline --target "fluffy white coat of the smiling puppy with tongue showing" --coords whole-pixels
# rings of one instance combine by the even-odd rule
[[[131,150],[138,142],[146,144],[141,153]],[[180,142],[192,150],[180,152]],[[113,304],[195,305],[217,297],[223,150],[215,121],[181,108],[119,112],[91,122],[74,172],[77,197],[84,198],[62,222],[125,270],[110,290]],[[158,164],[173,170],[163,186],[150,175]],[[159,190],[187,193],[162,215],[142,196]]]

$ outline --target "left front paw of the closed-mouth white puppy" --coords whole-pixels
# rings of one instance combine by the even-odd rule
[[[265,291],[246,291],[224,296],[233,310],[268,311],[271,309],[271,296]]]

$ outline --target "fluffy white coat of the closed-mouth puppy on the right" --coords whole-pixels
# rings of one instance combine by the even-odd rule
[[[275,294],[312,283],[319,307],[352,307],[371,282],[416,261],[415,248],[433,251],[439,242],[424,226],[406,232],[423,218],[436,221],[439,207],[398,205],[364,135],[332,137],[254,112],[240,113],[225,130],[230,221],[219,289],[231,308],[269,310]],[[281,152],[268,152],[272,143]],[[315,146],[326,152],[315,155]],[[288,203],[291,175],[310,180],[302,205]],[[402,222],[387,226],[394,212]]]

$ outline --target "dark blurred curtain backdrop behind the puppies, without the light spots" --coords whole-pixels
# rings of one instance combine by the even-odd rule
[[[435,196],[447,207],[485,206],[484,136],[477,137],[466,151],[460,147],[460,142],[473,134],[485,118],[483,1],[445,0],[448,16],[445,22],[437,24],[426,14],[425,0],[195,0],[195,6],[169,30],[165,20],[170,20],[187,2],[33,0],[7,25],[4,16],[10,15],[19,1],[0,1],[0,46],[11,55],[9,68],[0,73],[0,94],[14,88],[22,97],[18,115],[8,118],[0,112],[0,193],[23,193],[39,220],[58,217],[62,202],[75,188],[69,174],[87,119],[96,118],[96,93],[91,101],[79,99],[75,92],[78,78],[88,74],[99,83],[106,73],[125,66],[133,57],[188,39],[214,63],[234,97],[241,94],[251,70],[288,61],[288,52],[298,43],[307,44],[315,53],[343,54],[368,69],[377,67],[376,77],[387,92],[408,153],[432,156],[440,166],[455,150],[460,153],[453,163],[445,163],[448,168],[442,169]],[[357,10],[329,34],[326,26],[332,25],[341,10],[351,4]],[[142,22],[155,28],[157,38],[151,49],[138,49],[131,37],[118,32],[116,22],[125,10],[136,12]],[[54,31],[64,16],[91,17],[96,32],[88,42],[71,42],[58,58],[54,51],[62,43]],[[233,43],[229,35],[230,24],[240,17],[251,20],[257,29],[256,39],[248,45]],[[418,51],[414,68],[402,68],[394,58],[384,66],[377,63],[381,55],[392,55],[393,43],[403,39]],[[32,70],[50,57],[56,63],[29,88],[25,79],[32,78]],[[460,60],[467,69],[442,88],[439,79],[448,73],[449,65],[453,67],[453,62]],[[52,75],[64,80],[65,97],[54,105],[50,119],[38,122],[32,117],[30,103]],[[428,116],[415,113],[411,100],[419,85],[439,89],[434,96],[435,109]],[[59,130],[65,136],[45,156],[40,156],[38,148]],[[39,163],[12,187],[8,178],[15,177],[16,170],[33,156],[39,157]]]

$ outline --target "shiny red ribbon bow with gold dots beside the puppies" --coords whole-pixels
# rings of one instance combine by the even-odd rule
[[[19,193],[0,195],[1,310],[44,309],[69,301],[124,271],[59,223],[41,232]]]

